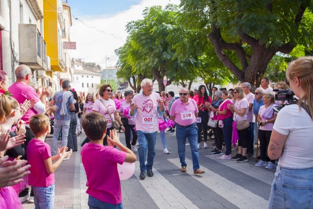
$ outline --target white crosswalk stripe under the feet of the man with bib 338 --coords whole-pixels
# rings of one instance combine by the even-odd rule
[[[175,164],[177,167],[181,167],[179,158],[167,160]],[[186,163],[192,165],[192,161],[187,158]],[[192,169],[187,169],[187,173],[204,186],[207,186],[208,188],[215,191],[217,194],[227,199],[230,203],[236,205],[238,208],[260,209],[266,208],[268,206],[268,201],[264,198],[250,192],[249,190],[239,185],[236,185],[235,183],[225,179],[224,177],[211,170],[208,170],[205,167],[201,167],[201,170],[205,171],[205,173],[202,175],[194,175]]]

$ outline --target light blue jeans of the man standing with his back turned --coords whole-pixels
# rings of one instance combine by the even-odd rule
[[[52,156],[57,153],[57,143],[61,129],[62,129],[62,146],[67,146],[69,123],[70,120],[55,120],[51,150]]]

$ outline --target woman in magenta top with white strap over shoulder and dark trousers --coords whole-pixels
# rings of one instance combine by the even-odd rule
[[[222,99],[223,103],[219,107],[218,120],[223,121],[223,135],[225,142],[225,154],[221,157],[222,160],[230,160],[231,159],[231,135],[233,131],[232,123],[233,123],[233,114],[230,109],[227,107],[228,104],[233,105],[231,99],[231,94],[222,91]],[[219,122],[221,123],[221,122]]]

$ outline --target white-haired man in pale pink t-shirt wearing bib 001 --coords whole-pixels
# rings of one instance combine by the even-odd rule
[[[153,82],[143,79],[141,82],[142,92],[135,95],[130,107],[130,116],[136,118],[137,141],[139,142],[138,156],[140,162],[140,179],[154,174],[152,166],[156,155],[156,132],[158,131],[157,116],[164,113],[164,102],[158,93],[153,92]],[[146,152],[148,149],[147,164]]]

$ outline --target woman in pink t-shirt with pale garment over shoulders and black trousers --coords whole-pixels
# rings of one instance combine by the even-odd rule
[[[275,168],[275,161],[270,160],[267,155],[268,144],[270,135],[272,134],[274,122],[277,117],[277,113],[274,112],[273,108],[277,105],[275,104],[275,97],[272,93],[263,94],[263,102],[265,105],[260,107],[258,114],[259,123],[259,139],[260,139],[260,157],[261,160],[255,164],[255,166],[261,167],[266,166],[266,168]]]

